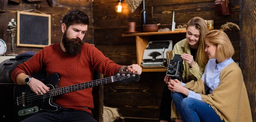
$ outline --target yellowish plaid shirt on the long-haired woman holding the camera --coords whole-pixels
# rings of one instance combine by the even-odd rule
[[[191,55],[189,42],[187,39],[183,39],[180,42],[177,42],[172,50],[172,59],[175,54],[188,53]],[[202,77],[204,69],[200,68],[198,63],[195,61],[195,66],[190,68],[189,64],[186,61],[183,61],[184,71],[182,75],[182,82],[187,83],[191,80],[197,80]]]

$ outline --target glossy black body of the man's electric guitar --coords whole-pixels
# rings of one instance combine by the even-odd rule
[[[41,80],[47,84],[50,89],[58,88],[60,75],[57,73],[49,75]],[[46,95],[46,94],[45,94]],[[54,103],[54,97],[45,97],[45,95],[37,95],[27,85],[16,85],[14,88],[15,110],[20,120],[26,119],[38,111],[58,112],[61,106]],[[24,96],[24,99],[21,99]],[[26,97],[28,96],[28,97]],[[34,97],[33,96],[38,96]],[[20,99],[17,99],[20,98]]]

